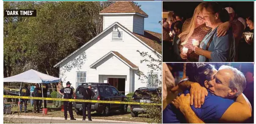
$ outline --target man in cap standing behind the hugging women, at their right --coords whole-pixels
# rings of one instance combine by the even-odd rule
[[[235,62],[237,62],[238,59],[238,44],[240,39],[242,38],[242,34],[244,32],[244,25],[242,22],[240,22],[237,18],[235,18],[235,11],[231,7],[226,7],[225,8],[228,11],[229,14],[229,22],[231,23],[232,26],[232,32],[235,38]]]

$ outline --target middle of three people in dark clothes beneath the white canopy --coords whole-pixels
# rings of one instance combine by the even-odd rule
[[[39,84],[36,84],[36,88],[32,93],[33,97],[42,97],[42,89],[39,88]],[[34,100],[34,113],[39,113],[39,100]]]

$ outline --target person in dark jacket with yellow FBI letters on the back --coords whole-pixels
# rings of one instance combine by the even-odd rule
[[[22,87],[19,92],[20,92],[20,96],[29,97],[30,96],[30,91],[28,90],[28,84],[25,84],[25,86]],[[24,113],[27,113],[28,99],[20,99],[19,112],[22,111],[23,103],[24,103]]]

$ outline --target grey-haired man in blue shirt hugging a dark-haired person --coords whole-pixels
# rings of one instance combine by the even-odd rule
[[[245,76],[239,70],[222,66],[213,80],[205,81],[209,94],[200,108],[190,106],[190,95],[182,94],[164,109],[163,123],[245,121],[251,116],[250,103],[242,96],[245,85]]]

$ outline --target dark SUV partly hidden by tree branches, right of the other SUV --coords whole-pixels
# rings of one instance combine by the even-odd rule
[[[155,94],[161,97],[161,93],[159,93],[161,88],[146,88],[141,87],[134,92],[132,96],[133,102],[145,102],[152,103],[150,94]],[[131,116],[137,117],[139,113],[146,113],[146,110],[143,109],[140,105],[131,105]]]

